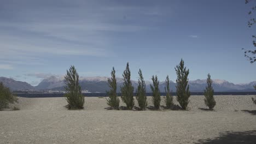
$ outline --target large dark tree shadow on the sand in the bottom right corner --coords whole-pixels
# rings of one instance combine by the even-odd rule
[[[214,139],[205,139],[198,140],[198,142],[194,143],[202,143],[202,144],[231,144],[231,143],[248,143],[255,144],[256,142],[256,130],[250,131],[226,131],[225,133],[220,133],[219,137]]]

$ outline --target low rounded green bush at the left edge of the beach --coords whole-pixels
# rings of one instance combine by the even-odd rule
[[[8,108],[9,103],[13,104],[17,102],[18,99],[10,91],[8,87],[5,87],[2,82],[0,82],[0,110]]]

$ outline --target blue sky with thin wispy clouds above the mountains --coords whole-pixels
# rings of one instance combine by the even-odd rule
[[[251,2],[253,4],[254,2]],[[74,65],[80,76],[131,79],[142,69],[176,80],[184,59],[189,80],[256,81],[256,63],[243,56],[253,49],[250,3],[216,1],[12,1],[0,2],[0,76],[33,86]]]

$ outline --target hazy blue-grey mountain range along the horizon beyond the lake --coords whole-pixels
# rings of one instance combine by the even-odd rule
[[[108,91],[108,77],[80,77],[80,86],[83,90],[95,93],[100,92],[104,93]],[[11,90],[55,90],[55,91],[64,91],[65,82],[64,77],[50,76],[40,82],[37,86],[31,86],[27,82],[15,81],[7,77],[0,77],[0,82],[3,82],[5,86],[9,87]],[[131,81],[132,86],[138,86],[137,81]],[[151,92],[150,83],[146,81],[147,92]],[[120,92],[120,87],[123,85],[123,79],[117,78],[117,91]],[[225,80],[213,80],[212,86],[215,92],[254,92],[253,86],[256,85],[256,81],[244,83],[244,84],[234,84]],[[176,91],[176,83],[170,81],[170,87],[173,92]],[[206,87],[206,80],[194,80],[189,81],[189,88],[191,92],[202,92]],[[165,81],[159,82],[159,88],[161,92],[165,92]]]

